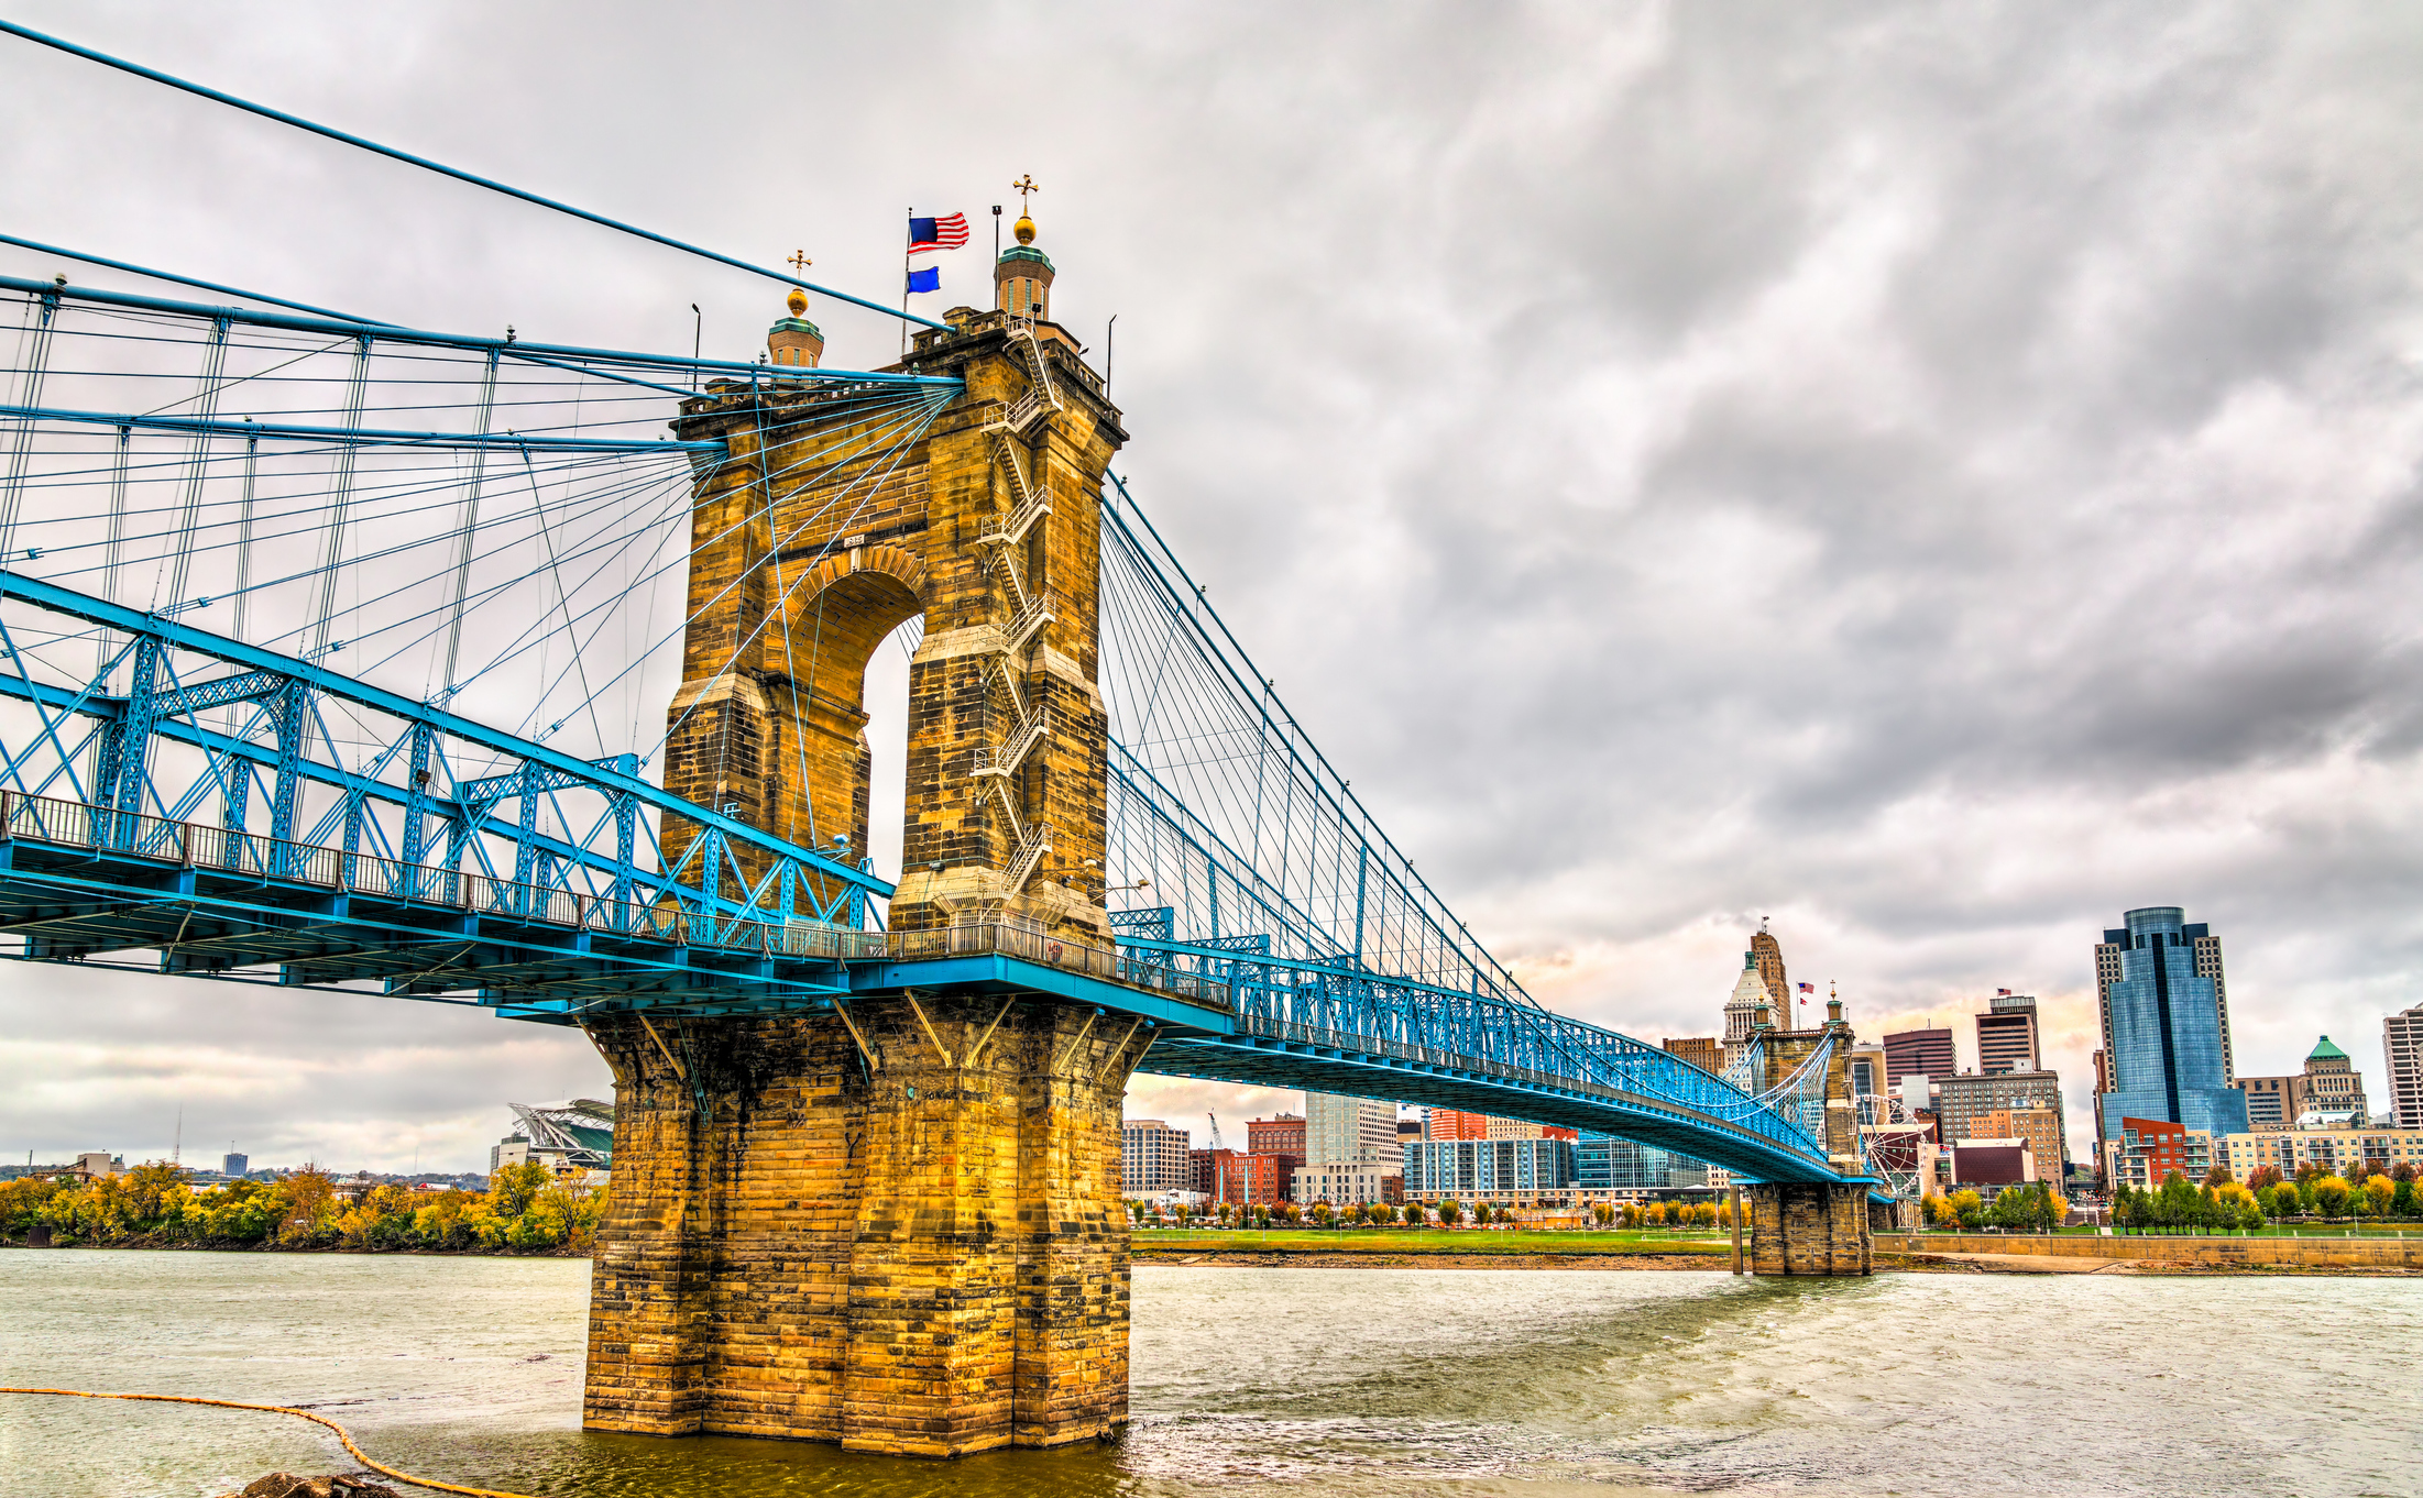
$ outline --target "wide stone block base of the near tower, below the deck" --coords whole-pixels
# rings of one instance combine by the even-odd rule
[[[918,1457],[1115,1433],[1127,1031],[1030,995],[598,1021],[584,1423]]]

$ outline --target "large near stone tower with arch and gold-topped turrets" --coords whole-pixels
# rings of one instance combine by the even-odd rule
[[[802,295],[766,375],[678,421],[729,450],[693,494],[666,787],[855,859],[867,658],[923,617],[901,949],[945,927],[943,951],[962,929],[1110,946],[1098,491],[1127,436],[1044,319],[1032,240],[1020,218],[1003,305],[916,336],[906,370],[964,382],[938,414],[785,380],[821,356]],[[659,837],[678,862],[695,835]],[[860,985],[594,1024],[618,1111],[586,1425],[933,1457],[1117,1430],[1119,1099],[1149,1031],[1098,1019],[1042,992]]]

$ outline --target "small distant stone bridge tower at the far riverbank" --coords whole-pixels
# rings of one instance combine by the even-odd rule
[[[1788,1009],[1786,1009],[1788,1014]],[[1832,1038],[1825,1062],[1825,1152],[1844,1176],[1861,1176],[1858,1104],[1851,1096],[1851,1026],[1841,999],[1827,999],[1827,1021],[1812,1031],[1778,1031],[1759,1009],[1762,1074],[1752,1087],[1781,1087]],[[1766,1181],[1749,1186],[1749,1273],[1866,1275],[1875,1254],[1868,1186]]]

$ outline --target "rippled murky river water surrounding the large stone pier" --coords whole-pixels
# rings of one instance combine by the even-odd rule
[[[1139,1268],[1124,1442],[952,1464],[584,1435],[589,1266],[0,1254],[0,1384],[310,1404],[550,1498],[2423,1493],[2423,1285]],[[0,1493],[346,1471],[283,1416],[0,1396]]]

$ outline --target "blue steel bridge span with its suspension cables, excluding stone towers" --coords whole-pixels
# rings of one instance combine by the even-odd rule
[[[1713,1074],[1536,1004],[1119,477],[1115,941],[892,932],[897,886],[831,828],[666,791],[693,484],[722,460],[669,436],[681,402],[812,390],[790,477],[829,472],[848,506],[957,380],[395,327],[0,240],[126,281],[0,276],[0,956],[560,1026],[1044,992],[1146,1029],[1146,1072],[1599,1130],[1749,1181],[1875,1179],[1825,1145],[1832,1031]],[[826,559],[763,564],[783,590]]]

